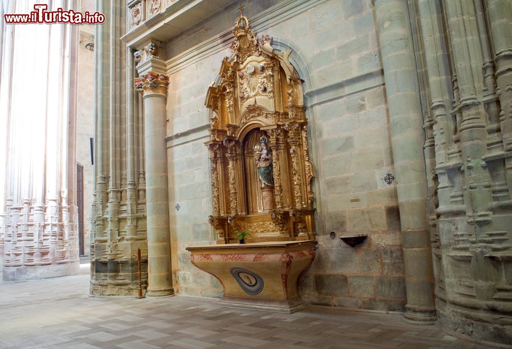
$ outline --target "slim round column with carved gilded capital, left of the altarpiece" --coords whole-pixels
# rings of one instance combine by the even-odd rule
[[[167,133],[165,105],[169,77],[162,73],[165,71],[163,69],[165,65],[160,59],[150,56],[143,63],[137,66],[141,77],[135,79],[135,86],[143,94],[145,120],[147,295],[168,296],[174,294],[170,264],[167,148],[165,141]]]

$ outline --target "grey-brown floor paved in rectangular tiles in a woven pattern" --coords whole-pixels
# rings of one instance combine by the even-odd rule
[[[86,269],[87,272],[87,269]],[[400,315],[238,310],[187,297],[91,298],[89,277],[0,283],[0,348],[475,349]]]

